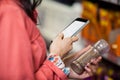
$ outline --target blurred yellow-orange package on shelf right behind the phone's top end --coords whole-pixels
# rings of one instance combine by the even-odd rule
[[[90,20],[90,23],[82,31],[82,36],[89,41],[96,42],[100,39],[100,29],[97,21],[97,5],[89,1],[83,1],[83,18]]]

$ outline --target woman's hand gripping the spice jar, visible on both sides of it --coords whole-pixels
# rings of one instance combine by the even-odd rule
[[[84,48],[83,50],[77,52],[77,53],[73,53],[72,55],[69,55],[68,57],[65,57],[63,59],[64,63],[66,66],[70,66],[70,63],[75,60],[76,58],[78,58],[81,54],[84,54],[91,46],[88,46],[86,48]],[[87,77],[92,76],[98,67],[98,63],[101,61],[102,57],[98,57],[96,59],[92,59],[90,63],[88,63],[84,69],[85,71],[82,74],[77,74],[75,73],[72,69],[70,71],[69,74],[69,78],[73,78],[73,79],[84,79]]]

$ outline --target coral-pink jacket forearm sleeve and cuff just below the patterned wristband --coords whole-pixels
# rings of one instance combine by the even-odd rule
[[[43,63],[35,76],[36,80],[68,80],[67,76],[49,60]]]

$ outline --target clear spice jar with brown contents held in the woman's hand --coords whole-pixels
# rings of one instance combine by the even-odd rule
[[[97,41],[88,51],[79,56],[71,63],[71,68],[77,74],[81,74],[84,71],[84,67],[91,59],[99,57],[101,54],[107,53],[110,49],[109,44],[101,39]]]

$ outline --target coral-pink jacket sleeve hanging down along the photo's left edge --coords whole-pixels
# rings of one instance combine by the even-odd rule
[[[34,79],[31,44],[25,25],[25,16],[14,4],[0,5],[1,79]]]

